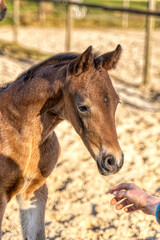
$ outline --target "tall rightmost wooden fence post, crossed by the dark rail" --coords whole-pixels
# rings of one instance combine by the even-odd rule
[[[155,10],[155,0],[148,1],[148,9],[150,11]],[[153,30],[153,17],[146,17],[146,37],[145,37],[145,53],[144,53],[144,78],[143,85],[148,84],[150,79],[150,65],[151,65],[151,36]]]

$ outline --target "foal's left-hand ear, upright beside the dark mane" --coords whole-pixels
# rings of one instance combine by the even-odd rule
[[[85,52],[73,60],[69,65],[69,72],[79,75],[88,70],[93,65],[94,59],[92,55],[92,46],[88,47]]]

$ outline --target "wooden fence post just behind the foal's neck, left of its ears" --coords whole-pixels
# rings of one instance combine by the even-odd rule
[[[65,51],[67,52],[71,50],[72,27],[73,27],[73,6],[68,4],[66,12],[66,36],[65,36]]]

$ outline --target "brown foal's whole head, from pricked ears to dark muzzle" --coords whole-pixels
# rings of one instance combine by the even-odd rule
[[[118,45],[115,51],[95,58],[89,47],[69,63],[64,88],[67,118],[103,175],[116,173],[123,165],[115,127],[119,97],[108,75],[120,54],[121,46]]]

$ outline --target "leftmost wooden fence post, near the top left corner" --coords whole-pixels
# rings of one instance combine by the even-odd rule
[[[13,41],[18,41],[19,0],[13,0]]]

